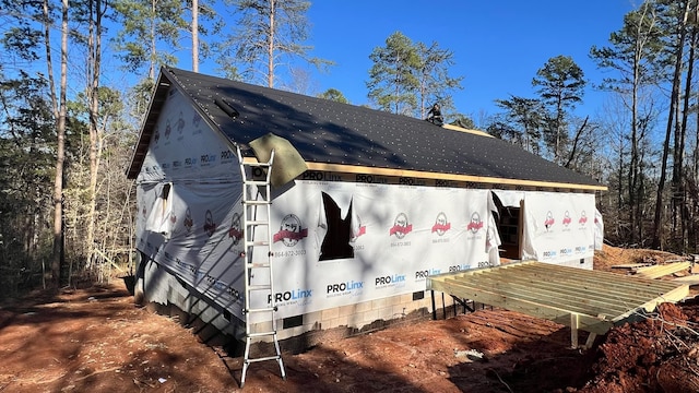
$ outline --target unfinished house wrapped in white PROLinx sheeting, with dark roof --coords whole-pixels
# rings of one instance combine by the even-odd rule
[[[501,254],[591,269],[602,241],[593,192],[604,187],[506,142],[163,69],[128,170],[145,300],[230,333],[236,320],[265,322],[242,311],[235,152],[269,133],[309,168],[272,189],[271,296],[288,320],[282,336],[430,308],[427,276],[496,265]],[[270,298],[250,300],[262,308]]]

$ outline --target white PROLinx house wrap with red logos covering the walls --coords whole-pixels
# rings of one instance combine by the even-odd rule
[[[319,175],[273,195],[279,318],[423,291],[428,275],[499,263],[490,190]],[[138,177],[137,247],[239,319],[246,296],[241,192],[235,153],[171,90]],[[528,257],[591,255],[594,226],[582,218],[594,217],[594,195],[506,196],[524,200]],[[253,258],[265,259],[269,250],[259,251]],[[252,284],[265,278],[257,272]],[[259,308],[270,299],[250,300]]]

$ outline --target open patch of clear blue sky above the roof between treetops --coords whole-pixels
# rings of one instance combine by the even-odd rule
[[[552,57],[570,56],[591,82],[603,74],[588,53],[618,31],[632,0],[348,0],[312,1],[312,56],[336,64],[315,74],[319,92],[341,91],[352,104],[368,104],[369,55],[401,32],[414,43],[436,41],[454,53],[452,76],[463,76],[457,108],[476,123],[501,111],[495,99],[532,97],[531,81]],[[592,88],[576,114],[594,115],[603,95]]]

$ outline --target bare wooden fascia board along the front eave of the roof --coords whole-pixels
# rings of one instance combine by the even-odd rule
[[[257,159],[253,157],[245,157],[244,162],[252,163],[252,162],[257,162]],[[587,191],[606,190],[606,187],[604,186],[569,184],[569,183],[531,181],[531,180],[521,180],[521,179],[489,178],[489,177],[479,177],[479,176],[470,176],[470,175],[436,174],[436,172],[426,172],[426,171],[419,171],[419,170],[378,168],[378,167],[353,166],[353,165],[341,165],[341,164],[306,163],[306,166],[308,167],[308,170],[334,171],[334,172],[343,172],[343,174],[412,177],[412,178],[420,178],[420,179],[464,181],[464,182],[476,182],[476,183],[487,183],[487,184],[543,187],[543,188],[574,189],[574,190],[587,190]]]

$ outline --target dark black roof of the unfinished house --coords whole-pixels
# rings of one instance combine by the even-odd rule
[[[463,175],[605,189],[597,181],[496,138],[328,99],[163,68],[130,178],[140,170],[167,85],[197,104],[233,144],[274,133],[307,163]],[[228,114],[236,112],[233,117]],[[512,183],[508,181],[508,183]],[[576,187],[578,186],[578,187]]]

